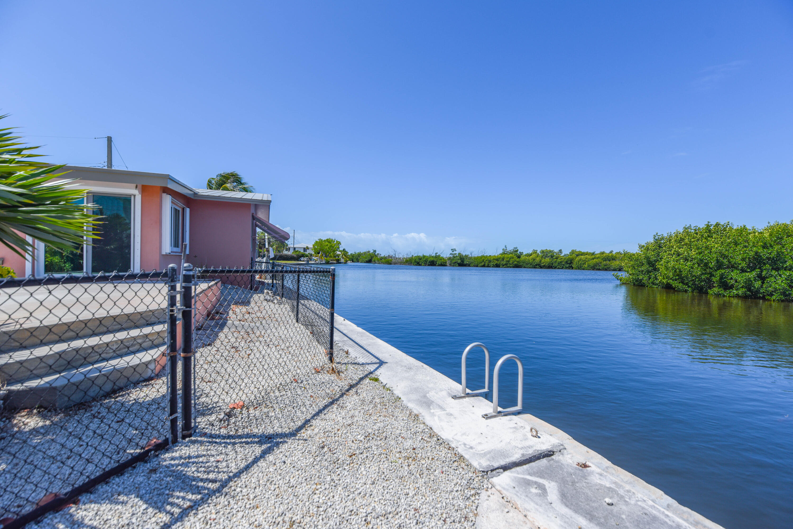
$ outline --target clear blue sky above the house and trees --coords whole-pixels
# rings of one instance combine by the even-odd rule
[[[791,2],[6,1],[0,32],[3,125],[50,161],[105,145],[33,136],[239,171],[298,242],[634,250],[793,219]]]

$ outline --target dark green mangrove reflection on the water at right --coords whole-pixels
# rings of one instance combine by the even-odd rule
[[[699,362],[784,369],[793,377],[793,304],[624,286],[639,332]],[[681,343],[682,342],[682,343]]]

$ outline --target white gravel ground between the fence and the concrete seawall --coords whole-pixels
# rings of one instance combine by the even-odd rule
[[[289,316],[268,296],[249,310],[269,311],[272,324]],[[240,324],[262,323],[243,314]],[[197,379],[214,381],[196,436],[29,527],[475,526],[488,481],[370,379],[377,366],[337,354],[330,374],[304,328],[269,341],[259,331],[228,325],[196,355]],[[278,376],[257,376],[262,362]],[[238,396],[245,406],[228,412]]]

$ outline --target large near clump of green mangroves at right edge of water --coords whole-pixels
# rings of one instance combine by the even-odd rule
[[[685,226],[626,253],[623,266],[615,277],[627,285],[793,301],[793,221]]]

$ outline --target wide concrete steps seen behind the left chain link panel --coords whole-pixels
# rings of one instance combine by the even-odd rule
[[[23,286],[0,291],[2,408],[68,408],[164,366],[166,286]]]

